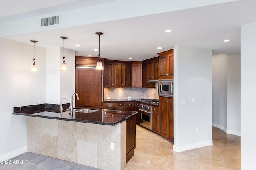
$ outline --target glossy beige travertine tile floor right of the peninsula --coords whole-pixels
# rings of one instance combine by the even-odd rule
[[[213,146],[174,152],[173,144],[136,125],[136,149],[125,170],[240,170],[240,136],[212,127]]]

